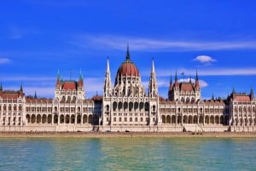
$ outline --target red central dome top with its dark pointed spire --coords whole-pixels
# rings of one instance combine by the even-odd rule
[[[119,67],[117,76],[139,77],[137,66],[135,66],[135,64],[130,59],[129,47],[127,47],[126,60]]]

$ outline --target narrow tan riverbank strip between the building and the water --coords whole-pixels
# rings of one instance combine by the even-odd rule
[[[149,132],[2,132],[0,138],[26,138],[26,137],[63,137],[63,138],[114,138],[114,137],[181,137],[181,138],[256,138],[256,133],[249,132],[212,132],[212,133],[193,133],[193,132],[182,132],[182,133],[149,133]]]

